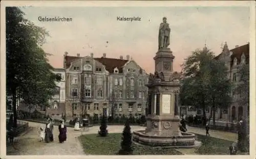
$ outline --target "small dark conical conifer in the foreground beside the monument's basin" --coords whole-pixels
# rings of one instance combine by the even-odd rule
[[[132,142],[130,120],[128,119],[126,120],[126,123],[124,125],[121,149],[119,150],[119,154],[121,155],[132,154],[133,153],[132,143],[133,142]]]

